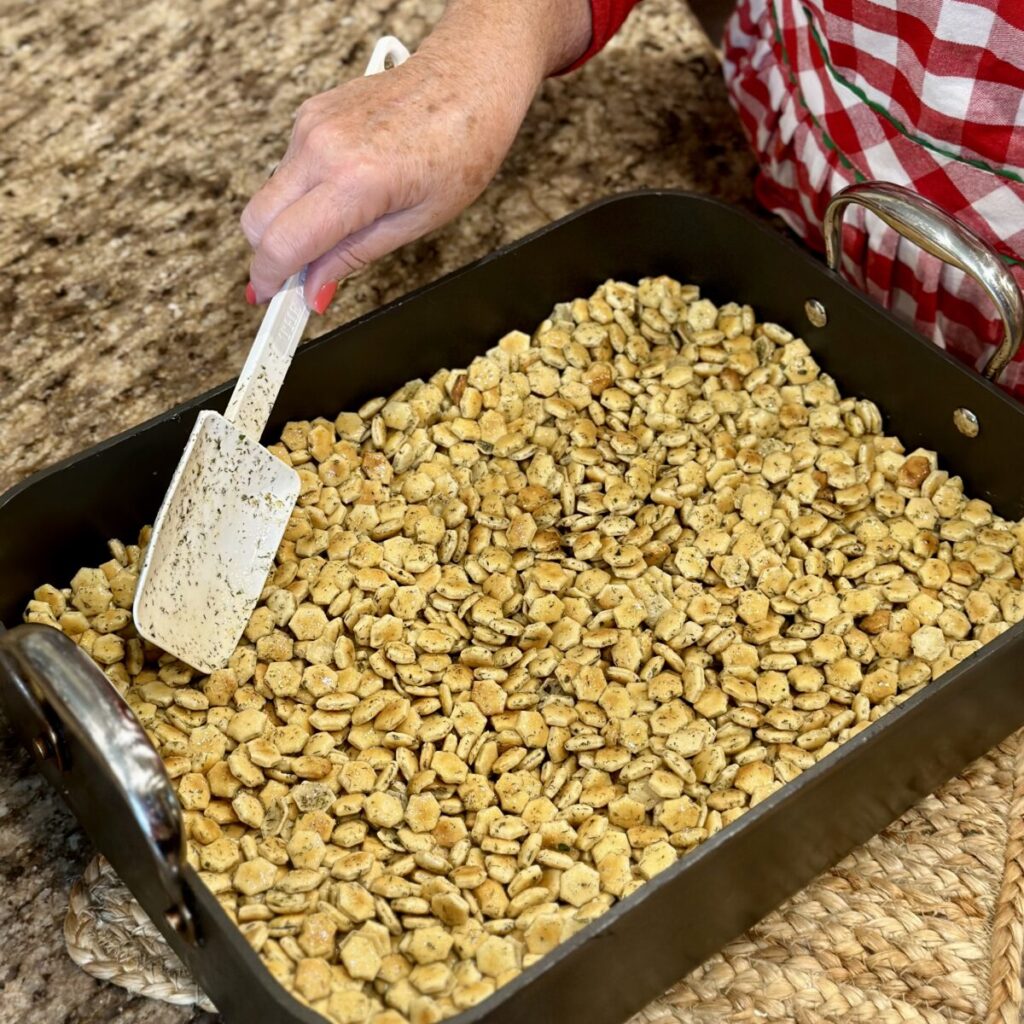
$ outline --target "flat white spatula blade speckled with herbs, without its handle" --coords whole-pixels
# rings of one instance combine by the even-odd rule
[[[298,474],[220,414],[200,413],[154,524],[135,628],[201,672],[249,622],[299,493]]]

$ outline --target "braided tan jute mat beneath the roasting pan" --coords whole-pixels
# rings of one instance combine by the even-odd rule
[[[68,949],[133,992],[211,1009],[110,865],[75,886]],[[821,876],[632,1024],[1024,1020],[1024,731]]]

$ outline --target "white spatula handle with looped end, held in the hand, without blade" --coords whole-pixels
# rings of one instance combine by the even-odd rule
[[[374,47],[366,74],[377,75],[387,69],[389,61],[391,67],[397,67],[407,59],[409,50],[394,36],[384,36]],[[270,300],[224,411],[224,418],[257,443],[309,319],[303,296],[305,280],[303,268],[289,278]]]

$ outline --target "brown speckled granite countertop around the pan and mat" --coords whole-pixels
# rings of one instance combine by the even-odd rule
[[[0,490],[237,373],[260,316],[238,217],[294,111],[361,71],[377,36],[415,46],[442,6],[0,0]],[[544,86],[471,209],[345,284],[310,333],[602,196],[675,186],[752,207],[752,175],[707,37],[682,0],[646,0],[601,57]],[[0,724],[0,1024],[211,1020],[68,958],[90,852]]]

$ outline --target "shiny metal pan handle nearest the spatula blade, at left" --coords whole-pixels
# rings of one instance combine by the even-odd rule
[[[147,906],[197,943],[181,808],[164,763],[99,668],[59,630],[0,633],[0,698],[37,767]]]

